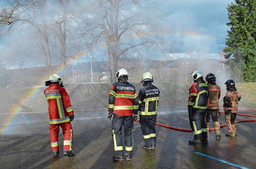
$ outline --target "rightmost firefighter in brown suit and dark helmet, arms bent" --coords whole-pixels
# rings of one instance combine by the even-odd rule
[[[238,110],[238,101],[241,99],[241,94],[236,90],[235,81],[229,79],[225,82],[227,86],[226,96],[223,98],[223,108],[225,111],[225,119],[228,125],[227,137],[236,136],[236,113]]]

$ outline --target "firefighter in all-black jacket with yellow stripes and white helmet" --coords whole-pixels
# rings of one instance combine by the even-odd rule
[[[155,122],[157,116],[157,105],[159,100],[159,90],[152,85],[152,74],[146,72],[142,75],[143,87],[140,89],[139,99],[139,115],[140,127],[144,137],[145,149],[156,148],[156,129]]]

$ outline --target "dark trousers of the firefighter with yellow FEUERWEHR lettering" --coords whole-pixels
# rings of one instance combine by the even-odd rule
[[[202,138],[207,138],[207,129],[205,122],[205,112],[188,114],[189,124],[194,133],[194,140],[200,140]]]

